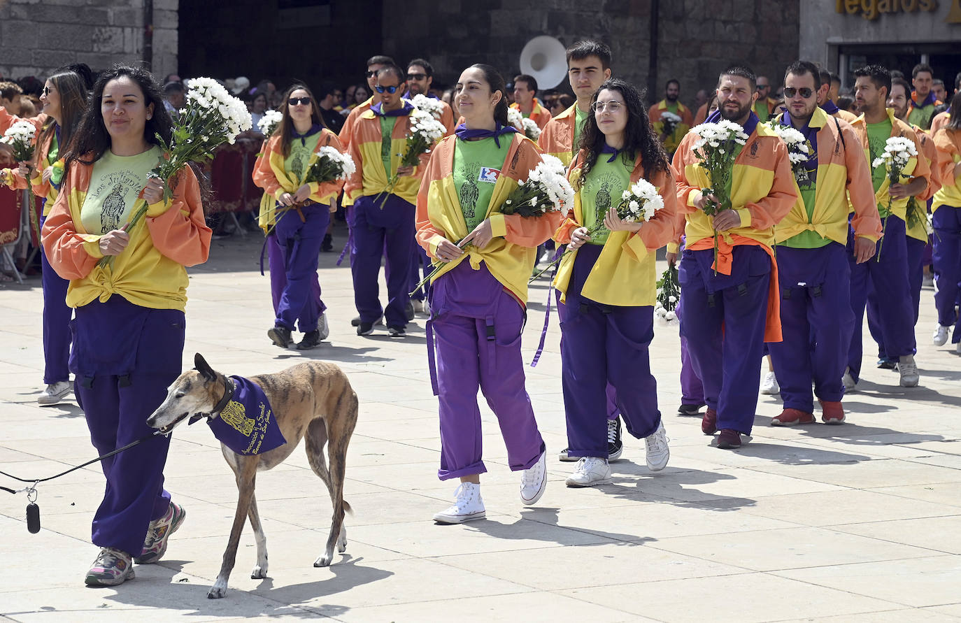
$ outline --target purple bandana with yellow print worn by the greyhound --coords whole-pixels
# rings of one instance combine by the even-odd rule
[[[213,436],[239,455],[262,454],[286,443],[260,386],[243,377],[231,379],[234,397],[217,417],[207,420]]]

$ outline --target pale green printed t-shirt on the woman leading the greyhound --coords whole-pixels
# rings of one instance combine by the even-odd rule
[[[147,186],[147,173],[160,161],[160,147],[136,156],[114,156],[110,150],[93,163],[80,222],[89,234],[107,234],[130,219],[136,197]]]

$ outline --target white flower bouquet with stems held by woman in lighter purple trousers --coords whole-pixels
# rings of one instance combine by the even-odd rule
[[[564,163],[549,154],[541,155],[541,162],[537,163],[528,173],[528,179],[521,182],[507,195],[497,212],[502,214],[520,214],[524,218],[536,218],[548,212],[559,212],[574,201],[574,188],[564,175]],[[463,240],[457,242],[457,246]],[[413,291],[416,292],[429,283],[434,275],[443,267],[444,262],[436,262],[431,274],[424,278]],[[411,292],[413,294],[413,292]]]

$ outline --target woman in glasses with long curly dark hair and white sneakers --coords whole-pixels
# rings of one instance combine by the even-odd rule
[[[648,466],[663,469],[670,456],[648,345],[654,252],[675,234],[674,177],[636,88],[608,80],[591,110],[568,174],[574,206],[554,235],[569,245],[554,279],[567,453],[579,457],[568,486],[610,482],[608,384],[628,432],[648,437]]]

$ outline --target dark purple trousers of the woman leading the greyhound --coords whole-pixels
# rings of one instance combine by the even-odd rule
[[[181,371],[184,312],[141,308],[114,294],[77,308],[70,370],[93,447],[101,455],[145,436],[147,417]],[[93,516],[92,540],[137,556],[148,524],[170,503],[163,466],[170,439],[151,437],[102,461],[104,499]]]

